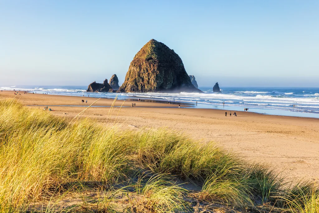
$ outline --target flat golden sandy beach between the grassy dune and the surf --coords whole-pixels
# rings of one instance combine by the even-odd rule
[[[14,91],[0,92],[0,98],[13,98]],[[81,100],[87,103],[81,103]],[[48,106],[57,116],[74,118],[96,98],[63,95],[24,94],[16,96],[20,103],[43,110]],[[93,106],[110,106],[111,99],[100,99]],[[195,139],[215,141],[244,159],[269,164],[292,179],[319,179],[319,119],[263,115],[236,111],[237,117],[225,117],[224,110],[178,109],[177,104],[118,100],[110,107],[91,107],[82,117],[121,128],[139,130],[166,127],[182,131]],[[130,107],[132,103],[136,107]],[[65,106],[55,106],[65,105]],[[74,106],[75,105],[75,106]],[[83,106],[83,107],[78,107]],[[118,114],[118,115],[117,115]]]

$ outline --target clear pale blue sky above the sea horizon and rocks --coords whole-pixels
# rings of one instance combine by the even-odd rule
[[[311,0],[0,0],[0,86],[121,84],[151,39],[202,87],[319,87]]]

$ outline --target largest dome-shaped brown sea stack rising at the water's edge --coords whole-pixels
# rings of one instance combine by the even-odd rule
[[[138,51],[117,92],[202,92],[194,87],[182,59],[154,39]]]

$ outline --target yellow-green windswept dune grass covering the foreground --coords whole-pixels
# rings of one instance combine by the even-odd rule
[[[313,183],[287,185],[267,166],[248,164],[212,142],[166,129],[105,127],[84,118],[70,123],[12,100],[0,101],[0,159],[0,212],[24,212],[31,202],[52,199],[78,183],[94,183],[112,194],[114,185],[132,179],[136,166],[154,175],[134,184],[131,211],[185,209],[188,192],[169,179],[174,175],[202,187],[191,193],[199,201],[318,212]],[[109,208],[106,197],[99,200],[99,208]]]

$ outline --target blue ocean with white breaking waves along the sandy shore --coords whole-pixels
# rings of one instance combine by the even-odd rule
[[[9,86],[1,90],[29,90],[50,95],[73,95],[127,100],[141,98],[159,102],[186,103],[187,107],[244,111],[270,115],[319,118],[319,88],[290,87],[199,87],[204,93],[88,93],[87,86]],[[196,104],[197,102],[197,104]],[[225,103],[225,105],[223,104]]]

